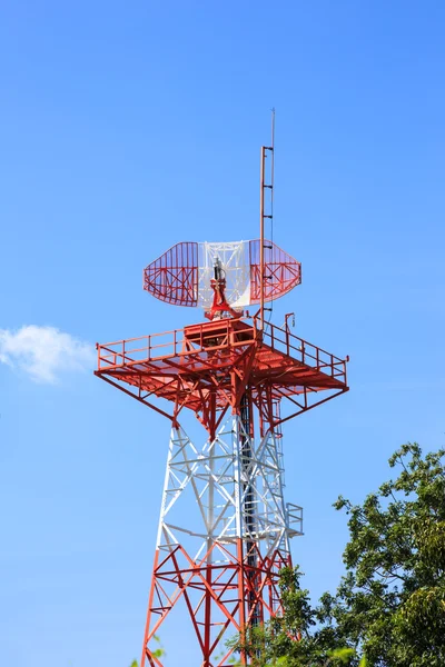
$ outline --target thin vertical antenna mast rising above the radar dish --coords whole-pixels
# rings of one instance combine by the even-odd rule
[[[271,110],[271,140],[270,146],[261,146],[260,151],[260,170],[259,170],[259,322],[260,329],[264,329],[264,311],[265,311],[265,281],[268,279],[265,276],[265,220],[274,220],[274,162],[275,162],[275,109]],[[266,182],[266,158],[270,156],[269,182]],[[265,207],[266,189],[270,191],[268,212]]]

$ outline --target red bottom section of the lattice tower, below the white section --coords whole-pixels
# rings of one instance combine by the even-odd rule
[[[277,549],[273,557],[264,558],[255,544],[251,554],[245,554],[243,540],[238,540],[236,556],[218,545],[228,564],[208,565],[216,548],[214,545],[199,560],[190,557],[180,545],[164,559],[159,551],[156,552],[141,665],[162,666],[152,640],[180,600],[185,600],[189,610],[202,653],[202,667],[229,667],[233,664],[229,658],[234,651],[225,647],[228,628],[243,634],[254,614],[265,620],[283,613],[278,581],[279,571],[291,565],[287,554]],[[247,556],[254,556],[255,566],[247,564]],[[195,606],[191,593],[199,600]],[[247,605],[247,600],[251,604]],[[241,656],[241,664],[248,664],[247,656]]]

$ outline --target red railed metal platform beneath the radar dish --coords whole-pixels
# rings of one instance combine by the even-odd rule
[[[346,364],[287,329],[225,318],[97,346],[96,375],[175,420],[187,407],[206,427],[206,406],[239,405],[247,385],[255,402],[293,404],[275,426],[348,390]],[[267,399],[265,398],[267,394]],[[175,404],[172,414],[151,404]],[[269,420],[270,421],[270,420]]]

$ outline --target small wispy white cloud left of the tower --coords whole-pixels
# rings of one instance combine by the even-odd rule
[[[91,368],[95,351],[55,327],[28,325],[16,331],[0,329],[0,364],[20,368],[36,382],[55,384],[63,372]]]

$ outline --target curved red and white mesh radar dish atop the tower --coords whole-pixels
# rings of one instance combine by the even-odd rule
[[[264,241],[264,298],[271,301],[301,282],[301,265]],[[260,302],[260,241],[176,243],[144,270],[144,289],[176,306],[211,308],[215,279],[235,310]]]

